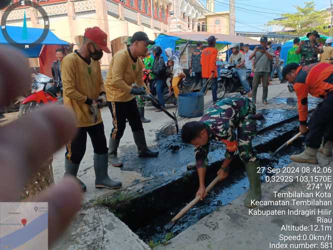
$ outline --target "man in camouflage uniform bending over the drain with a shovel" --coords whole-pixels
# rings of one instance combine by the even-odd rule
[[[204,198],[205,174],[208,165],[210,141],[218,140],[226,144],[225,160],[218,175],[221,180],[228,176],[229,164],[239,155],[245,163],[250,187],[245,198],[245,205],[253,207],[252,200],[261,199],[260,174],[257,172],[259,161],[252,146],[256,133],[256,119],[263,115],[256,114],[256,105],[245,96],[231,96],[219,100],[210,107],[200,121],[187,122],[181,132],[182,140],[195,146],[196,167],[200,187],[197,196]]]

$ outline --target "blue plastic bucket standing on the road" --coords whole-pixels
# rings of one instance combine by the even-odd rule
[[[199,117],[204,114],[204,94],[201,92],[178,95],[178,113],[182,117]]]

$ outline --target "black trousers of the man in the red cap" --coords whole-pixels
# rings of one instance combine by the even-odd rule
[[[94,153],[107,153],[103,122],[93,126],[79,127],[75,138],[66,145],[65,156],[74,164],[79,164],[84,156],[87,145],[87,133],[90,136]]]

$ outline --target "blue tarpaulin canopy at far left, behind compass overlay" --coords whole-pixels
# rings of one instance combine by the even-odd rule
[[[11,39],[18,44],[30,44],[34,43],[43,33],[42,28],[29,28],[27,27],[26,30],[23,27],[18,26],[6,26],[6,30],[8,35]],[[0,31],[0,44],[8,44],[8,41],[4,38],[2,30]],[[68,45],[69,43],[59,39],[52,31],[48,31],[45,39],[38,44],[33,44],[29,48],[21,48],[20,50],[27,56],[27,57],[38,57],[40,54],[40,50],[42,45]],[[19,49],[19,48],[17,48]]]

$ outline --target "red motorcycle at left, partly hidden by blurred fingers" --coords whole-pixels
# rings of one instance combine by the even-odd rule
[[[47,75],[41,73],[35,74],[31,86],[31,94],[25,97],[20,103],[18,116],[22,116],[42,104],[62,103],[62,88],[59,89],[60,96],[57,96],[57,92],[55,91],[59,87],[59,84],[59,81],[55,81]]]

